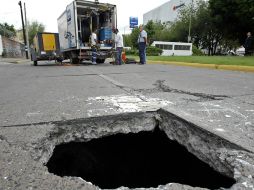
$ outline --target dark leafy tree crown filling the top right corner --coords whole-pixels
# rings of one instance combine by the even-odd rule
[[[210,0],[209,9],[223,38],[243,43],[246,33],[254,32],[253,0]]]

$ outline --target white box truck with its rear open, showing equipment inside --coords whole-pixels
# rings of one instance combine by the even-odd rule
[[[60,50],[71,63],[91,60],[91,33],[98,37],[97,62],[103,63],[112,55],[112,28],[117,28],[116,5],[97,0],[74,0],[58,18]]]

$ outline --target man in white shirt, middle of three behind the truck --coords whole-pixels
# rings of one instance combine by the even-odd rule
[[[117,28],[113,29],[113,33],[115,33],[116,64],[122,65],[123,36]]]

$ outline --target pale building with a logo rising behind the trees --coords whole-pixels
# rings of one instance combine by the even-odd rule
[[[192,0],[170,0],[167,3],[164,3],[163,5],[145,13],[143,15],[143,23],[147,24],[149,20],[161,23],[174,22],[179,10],[181,9],[176,7],[188,6],[191,2]],[[174,9],[174,7],[176,9]]]

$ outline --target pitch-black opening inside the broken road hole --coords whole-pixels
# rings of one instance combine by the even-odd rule
[[[81,177],[102,189],[149,188],[171,182],[218,189],[235,183],[159,128],[57,145],[47,167],[58,176]]]

